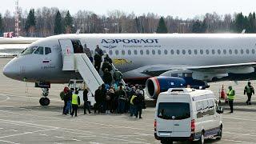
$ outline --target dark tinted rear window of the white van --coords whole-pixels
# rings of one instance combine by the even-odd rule
[[[181,120],[190,118],[190,104],[185,102],[160,102],[158,118]]]

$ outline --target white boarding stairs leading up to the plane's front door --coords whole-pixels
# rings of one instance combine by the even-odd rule
[[[63,58],[62,70],[75,70],[82,76],[86,86],[90,89],[92,94],[98,89],[98,86],[102,86],[104,83],[97,70],[94,68],[90,59],[86,54],[70,54]],[[112,64],[113,70],[116,70]],[[126,83],[122,79],[122,85],[126,86]]]

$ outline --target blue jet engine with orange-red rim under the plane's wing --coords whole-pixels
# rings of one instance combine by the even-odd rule
[[[179,78],[179,77],[152,77],[146,81],[146,93],[150,98],[157,99],[158,94],[167,91],[170,88],[186,87],[190,85],[195,89],[206,89],[209,86],[205,82],[193,78]]]

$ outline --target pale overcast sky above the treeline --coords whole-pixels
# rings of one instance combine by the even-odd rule
[[[2,1],[2,2],[1,2]],[[0,13],[6,10],[14,12],[15,0],[0,0]],[[121,10],[136,15],[154,13],[159,16],[171,15],[174,18],[194,18],[202,14],[216,12],[218,14],[249,14],[256,11],[255,0],[19,0],[22,10],[30,8],[58,7],[70,10],[75,14],[78,10],[89,10],[95,14],[107,14],[108,11]]]

